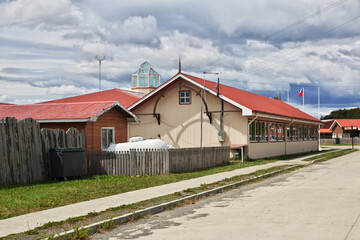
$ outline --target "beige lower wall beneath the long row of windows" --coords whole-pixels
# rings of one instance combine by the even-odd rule
[[[249,144],[249,158],[259,159],[318,150],[318,141],[264,142]]]

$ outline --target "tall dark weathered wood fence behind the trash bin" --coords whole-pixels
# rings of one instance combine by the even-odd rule
[[[50,148],[85,147],[77,129],[42,129],[32,118],[0,120],[0,185],[29,184],[50,177]]]

